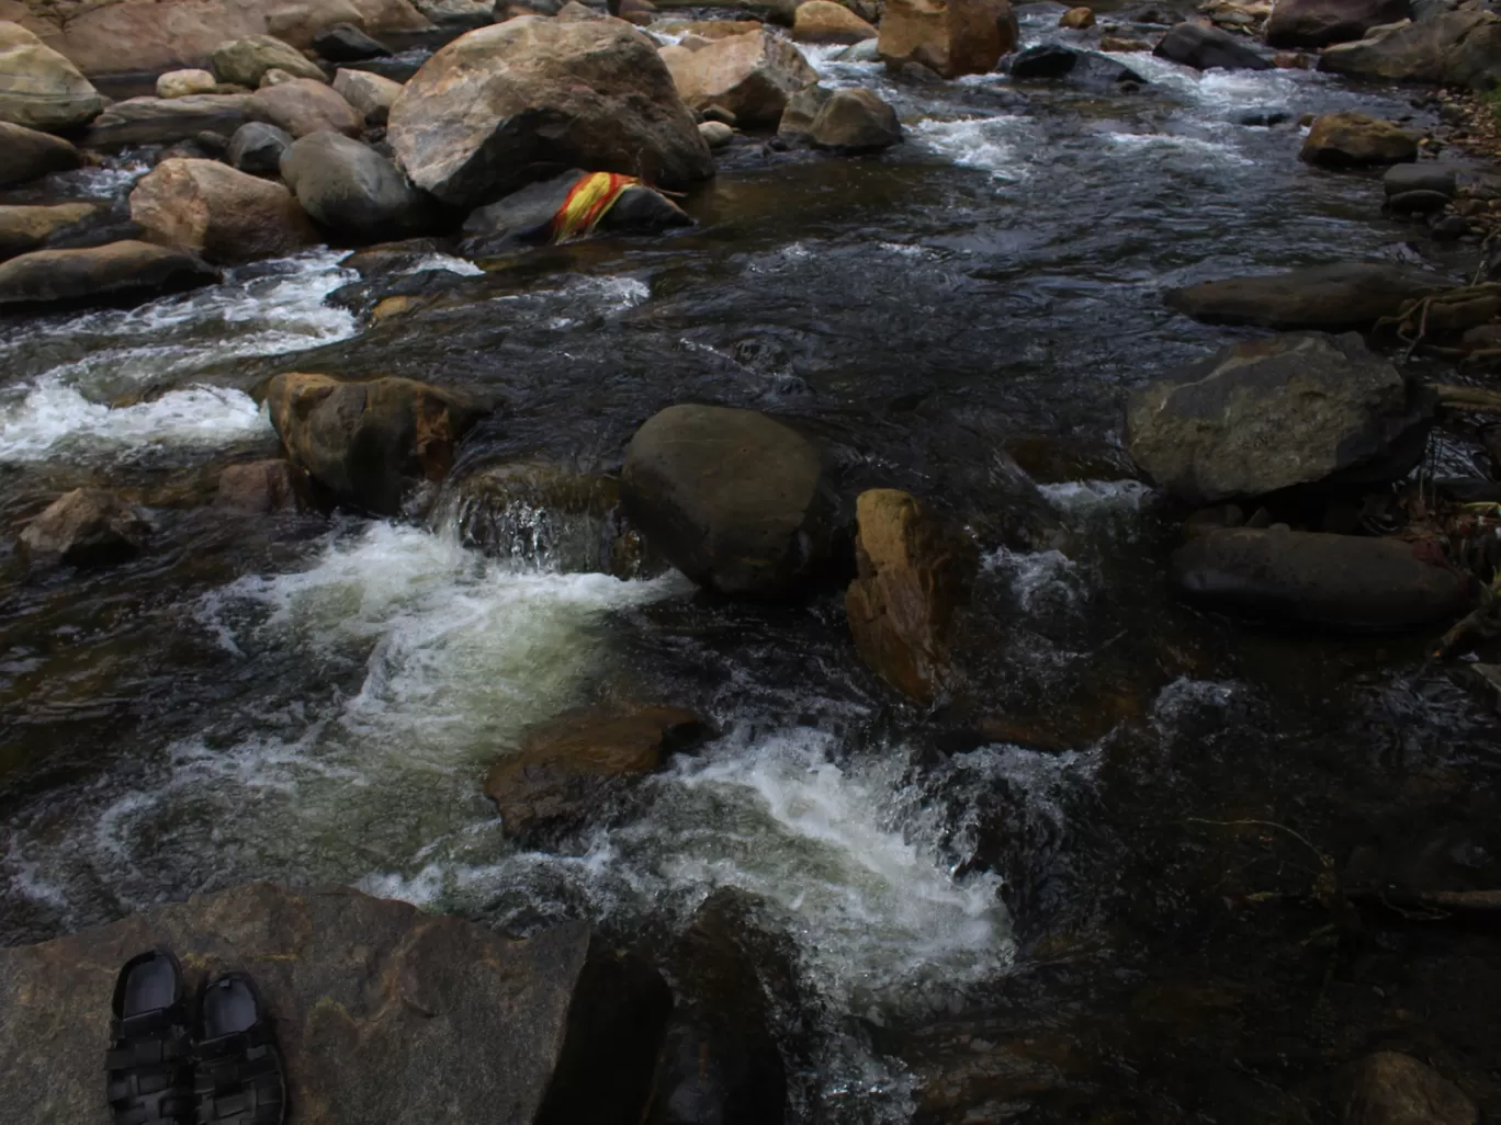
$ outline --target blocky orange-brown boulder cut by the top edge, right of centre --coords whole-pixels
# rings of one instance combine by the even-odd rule
[[[1019,42],[1007,0],[887,0],[877,51],[893,70],[920,63],[958,78],[989,74]]]

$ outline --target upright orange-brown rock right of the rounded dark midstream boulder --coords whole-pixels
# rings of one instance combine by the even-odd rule
[[[856,651],[886,682],[926,704],[950,669],[950,642],[979,558],[970,538],[916,496],[862,492],[857,578],[845,594]]]

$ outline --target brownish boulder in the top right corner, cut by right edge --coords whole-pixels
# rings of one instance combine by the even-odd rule
[[[1487,90],[1501,80],[1501,20],[1492,12],[1441,12],[1378,28],[1319,56],[1319,70],[1387,82]]]

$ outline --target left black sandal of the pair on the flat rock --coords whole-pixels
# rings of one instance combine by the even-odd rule
[[[126,962],[113,1010],[105,1070],[114,1125],[192,1125],[192,1046],[177,958],[152,950]]]

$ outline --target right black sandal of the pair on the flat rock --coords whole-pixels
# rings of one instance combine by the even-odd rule
[[[282,1125],[287,1078],[255,982],[225,974],[198,994],[197,1125]]]

